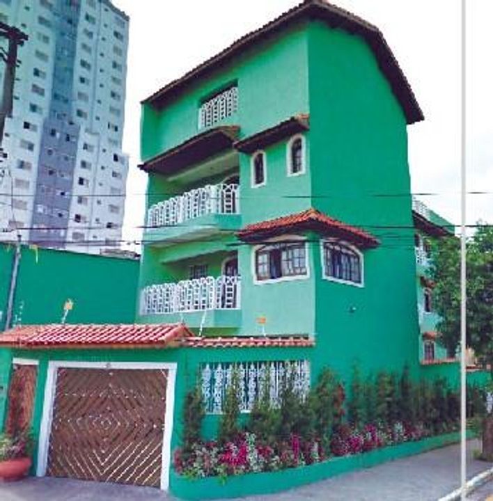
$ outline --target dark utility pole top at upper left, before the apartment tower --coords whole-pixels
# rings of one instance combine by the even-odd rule
[[[5,120],[8,116],[12,116],[15,70],[17,69],[17,50],[28,39],[28,36],[23,31],[8,26],[0,22],[0,38],[8,40],[7,50],[0,47],[0,58],[6,64],[5,77],[3,77],[3,93],[0,107],[0,145],[3,140],[3,129]]]

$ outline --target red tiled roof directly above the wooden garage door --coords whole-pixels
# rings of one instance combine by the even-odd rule
[[[171,347],[192,337],[184,324],[50,324],[0,334],[0,346],[18,348]]]

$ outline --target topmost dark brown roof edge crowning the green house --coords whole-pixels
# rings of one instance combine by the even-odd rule
[[[252,45],[262,42],[269,36],[286,29],[292,23],[303,19],[322,19],[331,27],[341,28],[349,33],[357,33],[363,37],[370,49],[372,49],[373,54],[375,54],[380,70],[389,81],[393,93],[400,102],[407,123],[412,124],[423,120],[423,112],[416,101],[412,88],[400,69],[396,57],[389,45],[387,45],[384,35],[373,24],[324,0],[305,0],[299,3],[299,5],[286,11],[260,29],[247,33],[234,42],[233,45],[204,61],[183,77],[171,81],[146,100],[143,100],[143,103],[152,104],[157,108],[164,106],[166,102],[182,93],[191,84],[194,84],[197,79],[206,77],[214,70],[224,67]]]

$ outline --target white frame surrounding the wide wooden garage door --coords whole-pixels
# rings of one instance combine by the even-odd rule
[[[166,381],[166,410],[164,413],[161,481],[159,487],[162,491],[167,491],[169,489],[169,475],[171,472],[171,436],[173,434],[173,413],[175,408],[175,381],[177,367],[177,363],[81,362],[72,360],[49,361],[45,383],[45,399],[42,406],[36,477],[45,477],[46,475],[49,437],[52,431],[53,406],[56,392],[56,374],[58,369],[162,369],[168,371],[168,379]]]

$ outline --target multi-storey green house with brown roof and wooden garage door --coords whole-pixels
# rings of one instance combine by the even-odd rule
[[[279,490],[419,450],[280,472],[276,482],[259,474],[222,491],[217,480],[187,484],[171,467],[187,390],[198,379],[203,433],[214,437],[234,365],[245,415],[265,374],[279,398],[288,362],[300,391],[326,367],[343,381],[354,364],[365,374],[407,364],[421,375],[407,161],[407,127],[421,120],[382,33],[322,0],[144,100],[135,324],[18,328],[1,340],[14,367],[4,394],[9,378],[10,388],[21,378],[33,388],[16,408],[38,437],[36,474],[203,498]],[[4,403],[0,420],[9,413]]]

